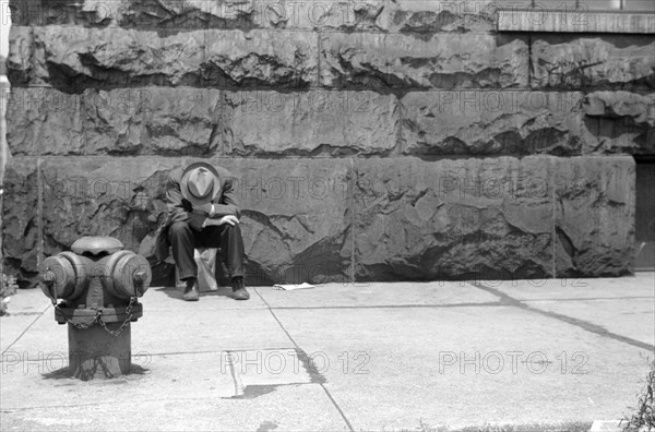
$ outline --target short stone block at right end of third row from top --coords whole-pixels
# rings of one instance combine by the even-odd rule
[[[583,108],[585,153],[655,154],[655,94],[595,92]]]

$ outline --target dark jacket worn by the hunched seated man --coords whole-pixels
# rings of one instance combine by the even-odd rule
[[[237,204],[237,197],[234,185],[233,175],[225,168],[214,167],[218,172],[221,180],[221,191],[212,200],[214,204],[214,218],[219,218],[226,215],[234,215],[238,218],[241,217],[241,212]],[[187,221],[189,227],[195,231],[202,230],[202,224],[209,217],[206,213],[194,209],[191,203],[182,197],[180,189],[180,180],[182,178],[183,169],[172,169],[168,178],[166,179],[166,204],[168,205],[168,213],[159,218],[157,232],[156,232],[156,244],[155,254],[158,261],[164,261],[168,257],[168,227],[176,221]]]

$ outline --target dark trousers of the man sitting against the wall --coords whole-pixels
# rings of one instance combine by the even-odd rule
[[[221,248],[221,256],[229,276],[243,276],[243,238],[239,224],[224,224],[195,231],[186,221],[176,221],[168,227],[168,241],[181,280],[198,278],[198,265],[193,259],[193,250],[198,248]]]

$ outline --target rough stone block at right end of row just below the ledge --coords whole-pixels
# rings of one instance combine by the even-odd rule
[[[543,36],[532,44],[533,88],[653,89],[651,36]]]

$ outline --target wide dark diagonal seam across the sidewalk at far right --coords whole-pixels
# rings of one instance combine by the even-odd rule
[[[538,313],[540,315],[548,316],[548,317],[561,321],[563,323],[576,326],[579,328],[585,329],[587,332],[594,333],[600,337],[605,337],[605,338],[614,339],[614,340],[617,340],[617,341],[620,341],[623,344],[632,345],[633,347],[645,349],[648,351],[655,351],[654,345],[646,344],[646,343],[633,339],[628,336],[622,336],[622,335],[619,335],[614,332],[609,332],[607,328],[605,328],[600,325],[597,325],[597,324],[590,323],[588,321],[579,320],[579,319],[563,315],[563,314],[557,313],[557,312],[543,311],[540,309],[533,308],[529,304],[525,304],[521,300],[517,300],[511,296],[508,296],[507,293],[504,293],[496,288],[488,287],[485,284],[479,283],[479,281],[469,281],[468,284],[471,284],[472,286],[474,286],[476,288],[481,289],[483,291],[489,292],[490,295],[498,297],[500,299],[500,302],[504,305],[514,307],[514,308],[523,309],[528,312]]]

